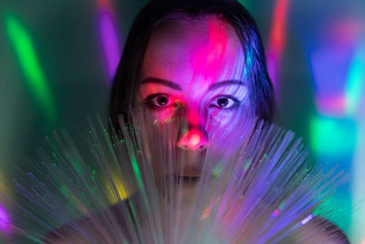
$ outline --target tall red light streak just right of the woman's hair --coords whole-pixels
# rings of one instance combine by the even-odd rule
[[[274,89],[277,94],[277,69],[280,65],[280,57],[286,43],[286,22],[288,0],[277,0],[275,12],[273,17],[273,26],[271,27],[271,34],[269,40],[269,48],[267,52],[267,69],[270,78],[273,82]]]

